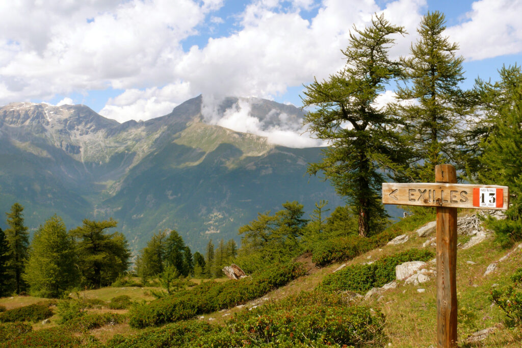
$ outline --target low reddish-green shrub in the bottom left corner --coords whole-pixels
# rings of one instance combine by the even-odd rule
[[[5,348],[27,347],[73,347],[80,339],[61,327],[30,331],[3,343]]]

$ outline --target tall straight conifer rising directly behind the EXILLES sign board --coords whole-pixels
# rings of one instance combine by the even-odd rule
[[[399,102],[392,106],[407,124],[413,152],[407,176],[416,182],[434,182],[437,164],[458,165],[463,117],[471,112],[469,93],[458,87],[464,58],[456,56],[458,45],[443,36],[444,23],[438,11],[422,18],[420,39],[411,45],[411,55],[401,59],[405,84],[397,87]]]

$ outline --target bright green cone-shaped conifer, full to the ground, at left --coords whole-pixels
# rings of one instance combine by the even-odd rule
[[[34,234],[23,279],[31,294],[58,297],[79,282],[72,236],[54,215]]]

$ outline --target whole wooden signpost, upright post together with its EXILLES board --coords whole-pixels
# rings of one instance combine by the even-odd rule
[[[437,347],[457,346],[457,208],[502,209],[509,189],[457,184],[455,167],[435,166],[436,183],[383,184],[383,203],[437,207]]]

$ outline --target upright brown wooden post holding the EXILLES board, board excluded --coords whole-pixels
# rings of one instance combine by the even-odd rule
[[[437,183],[456,184],[455,167],[435,166]],[[441,195],[444,200],[444,195]],[[441,203],[444,203],[442,201]],[[437,207],[437,347],[457,346],[457,208]]]

